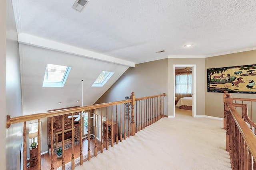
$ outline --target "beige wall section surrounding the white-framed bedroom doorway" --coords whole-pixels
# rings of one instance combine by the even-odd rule
[[[206,71],[204,58],[168,59],[168,115],[173,115],[173,64],[196,64],[196,115],[205,115]],[[200,101],[200,102],[199,102]]]

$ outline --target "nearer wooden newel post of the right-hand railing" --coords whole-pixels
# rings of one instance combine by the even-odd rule
[[[230,111],[228,109],[228,104],[232,104],[233,103],[233,99],[231,97],[231,94],[230,93],[227,93],[226,94],[226,104],[225,104],[225,107],[224,107],[224,110],[226,111],[226,115],[227,115],[227,118],[226,118],[226,150],[229,151],[230,150],[230,139],[229,139],[229,134],[230,134],[230,119],[231,119],[231,115],[230,115]]]

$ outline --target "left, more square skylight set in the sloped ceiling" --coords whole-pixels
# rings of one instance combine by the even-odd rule
[[[64,87],[71,67],[47,64],[43,87]]]

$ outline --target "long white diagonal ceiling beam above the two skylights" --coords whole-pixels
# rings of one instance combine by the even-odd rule
[[[18,42],[22,43],[22,44],[26,44],[26,45],[32,45],[32,46],[41,47],[41,48],[44,48],[44,49],[51,49],[51,50],[54,50],[54,51],[60,51],[60,52],[63,52],[63,53],[78,55],[78,56],[82,56],[82,57],[88,57],[88,58],[91,58],[91,59],[106,61],[106,62],[120,64],[120,65],[124,65],[124,66],[130,66],[130,67],[135,66],[135,64],[131,61],[118,59],[118,58],[115,58],[115,57],[111,57],[111,56],[108,56],[108,55],[96,53],[96,52],[89,51],[89,50],[86,50],[86,49],[81,49],[81,48],[74,47],[74,46],[71,46],[71,45],[58,43],[56,41],[52,41],[52,40],[49,40],[49,39],[36,37],[36,36],[29,35],[29,34],[26,34],[26,33],[18,34]]]

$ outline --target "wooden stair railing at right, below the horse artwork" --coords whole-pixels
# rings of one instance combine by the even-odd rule
[[[247,104],[235,104],[231,94],[225,95],[226,150],[230,152],[231,167],[238,170],[255,170],[256,136],[250,129],[252,121],[247,115]],[[242,108],[242,116],[235,107]],[[247,121],[251,124],[247,124]]]

